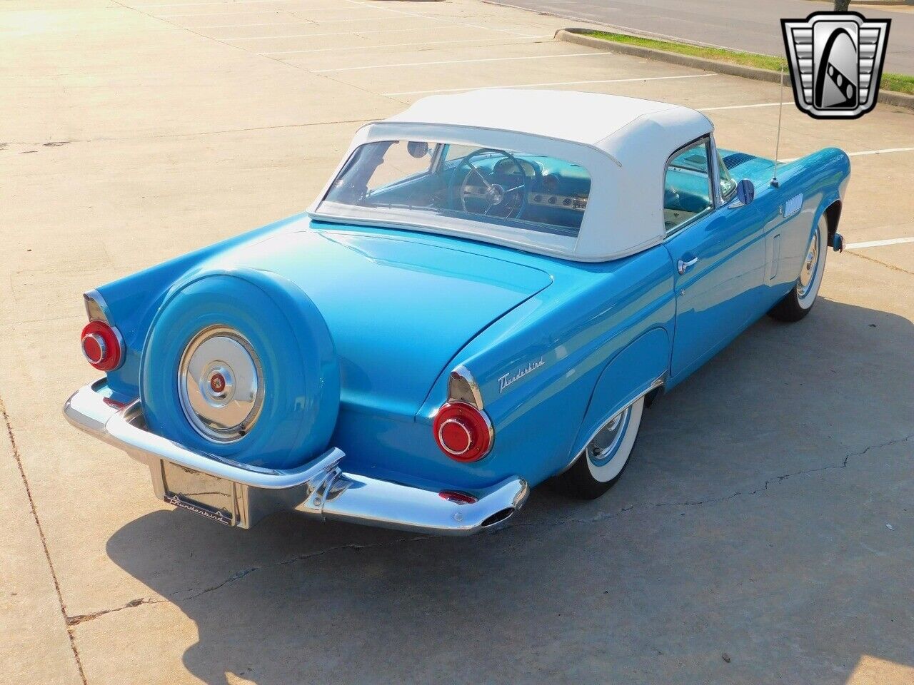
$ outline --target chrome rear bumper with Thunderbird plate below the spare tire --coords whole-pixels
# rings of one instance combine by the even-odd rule
[[[160,500],[227,525],[250,528],[274,511],[295,510],[324,520],[471,535],[504,524],[529,494],[526,480],[514,477],[474,491],[474,502],[445,499],[437,491],[346,473],[338,448],[285,470],[198,454],[146,430],[139,400],[108,404],[105,385],[101,379],[70,396],[63,408],[69,422],[149,466]]]

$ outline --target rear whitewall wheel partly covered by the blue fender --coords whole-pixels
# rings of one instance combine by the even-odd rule
[[[632,455],[643,411],[642,396],[603,424],[574,464],[554,479],[556,489],[580,500],[596,500],[615,485]]]

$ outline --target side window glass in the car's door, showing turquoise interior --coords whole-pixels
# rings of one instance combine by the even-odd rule
[[[667,233],[714,206],[708,161],[709,146],[704,140],[676,151],[666,164],[664,228]]]

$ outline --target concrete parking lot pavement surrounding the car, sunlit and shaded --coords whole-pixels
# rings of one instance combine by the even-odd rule
[[[770,84],[553,42],[553,17],[149,2],[0,11],[7,680],[914,680],[912,243],[830,255],[810,317],[760,321],[658,402],[610,494],[538,489],[496,534],[292,515],[226,530],[156,502],[143,467],[67,426],[60,406],[95,376],[83,290],[300,211],[362,121],[422,92],[670,100],[708,108],[724,147],[774,149]],[[912,121],[785,107],[781,157],[866,153],[849,242],[914,237],[914,152],[872,153],[914,147]]]

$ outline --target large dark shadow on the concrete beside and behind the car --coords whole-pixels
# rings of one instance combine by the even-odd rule
[[[902,317],[824,299],[760,321],[646,414],[610,493],[539,488],[500,532],[155,511],[107,552],[197,624],[184,665],[213,684],[845,683],[866,655],[914,665],[912,340]]]

